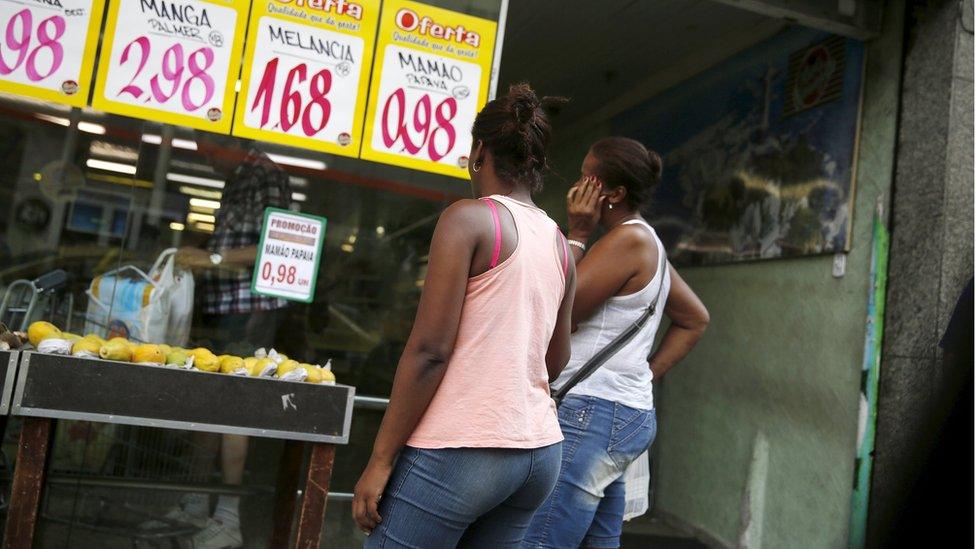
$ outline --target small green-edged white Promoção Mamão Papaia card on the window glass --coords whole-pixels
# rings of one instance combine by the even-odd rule
[[[266,208],[251,292],[311,303],[325,224],[324,217]]]

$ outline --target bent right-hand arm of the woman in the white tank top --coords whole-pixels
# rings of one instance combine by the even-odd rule
[[[671,290],[664,314],[671,319],[671,325],[657,351],[648,360],[654,379],[667,373],[691,352],[708,327],[708,309],[698,299],[691,287],[678,275],[678,271],[668,264],[671,273]]]

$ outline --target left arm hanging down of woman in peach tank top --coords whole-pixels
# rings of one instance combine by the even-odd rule
[[[484,205],[475,200],[456,202],[434,229],[417,318],[397,365],[373,454],[356,484],[353,516],[364,532],[372,532],[380,521],[377,504],[396,456],[434,398],[454,351],[477,228],[484,221],[480,208]]]

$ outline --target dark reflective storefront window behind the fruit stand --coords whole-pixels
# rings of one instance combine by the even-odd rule
[[[431,4],[499,17],[498,0]],[[437,217],[470,194],[461,179],[6,93],[0,161],[0,297],[10,294],[0,320],[11,329],[47,320],[79,335],[138,339],[131,326],[113,322],[116,307],[141,298],[127,294],[126,281],[175,249],[174,264],[193,273],[188,329],[176,330],[180,341],[155,343],[241,357],[274,348],[330,365],[338,383],[377,397],[389,395]],[[268,206],[327,219],[311,303],[250,292]],[[215,252],[225,256],[222,265],[212,264]],[[18,309],[35,296],[7,290],[38,279],[52,287],[25,316]],[[349,444],[337,451],[333,492],[352,492],[381,417],[355,412]],[[14,420],[3,447],[8,473],[18,432]],[[201,486],[211,505],[221,493],[243,495],[246,544],[266,544],[283,443],[252,438],[243,482],[228,488],[217,436],[59,421],[40,546],[144,540],[140,528]],[[323,546],[361,543],[349,513],[341,497],[330,500]]]

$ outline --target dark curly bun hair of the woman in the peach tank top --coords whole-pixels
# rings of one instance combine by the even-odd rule
[[[542,190],[549,167],[546,149],[552,126],[545,106],[565,99],[539,99],[528,84],[513,84],[508,93],[488,102],[474,120],[471,134],[494,158],[495,173],[505,181],[523,181],[532,192]]]

